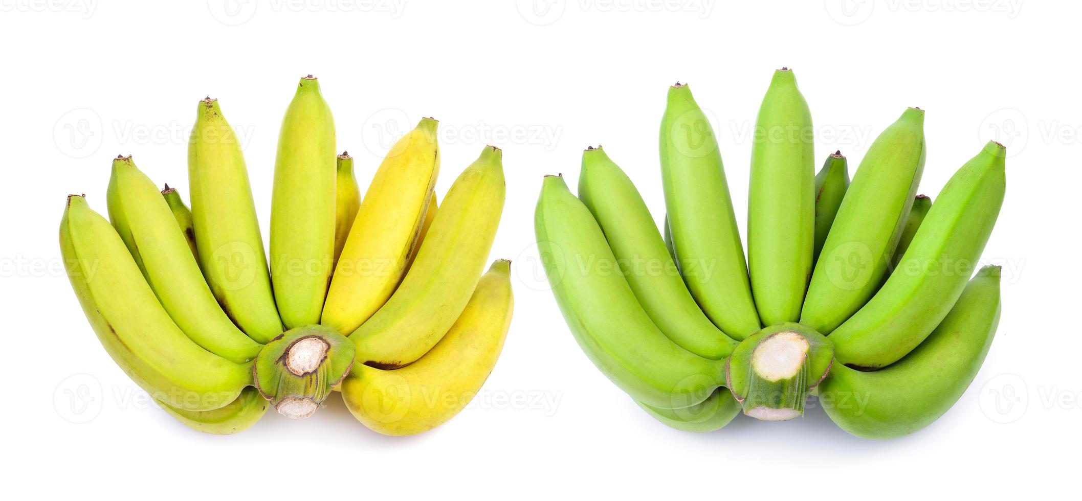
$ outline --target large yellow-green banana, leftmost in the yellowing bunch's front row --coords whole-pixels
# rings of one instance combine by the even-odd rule
[[[60,240],[71,288],[98,341],[151,397],[182,410],[214,410],[252,384],[252,362],[214,355],[176,327],[123,240],[82,196],[68,197]]]

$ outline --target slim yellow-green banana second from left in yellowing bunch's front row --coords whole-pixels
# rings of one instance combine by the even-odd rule
[[[108,208],[117,234],[176,327],[222,358],[255,358],[262,345],[237,329],[219,306],[169,203],[131,157],[113,161]]]

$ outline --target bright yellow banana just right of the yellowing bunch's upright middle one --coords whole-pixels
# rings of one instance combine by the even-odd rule
[[[401,280],[439,173],[437,124],[421,119],[375,171],[334,267],[325,326],[349,334],[383,306]]]

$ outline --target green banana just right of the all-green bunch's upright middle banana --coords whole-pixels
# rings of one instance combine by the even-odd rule
[[[829,334],[875,292],[924,170],[924,110],[909,108],[875,139],[827,235],[801,324]]]

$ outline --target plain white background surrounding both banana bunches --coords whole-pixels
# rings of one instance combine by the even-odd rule
[[[0,265],[9,492],[210,497],[667,499],[1078,495],[1082,337],[1077,262],[1082,4],[1035,0],[0,0]],[[902,439],[806,417],[738,417],[695,435],[655,422],[575,344],[532,246],[541,176],[578,182],[604,144],[655,215],[668,85],[689,81],[715,130],[741,225],[750,143],[776,67],[795,69],[817,156],[856,169],[906,106],[927,109],[921,192],[997,139],[1007,195],[984,261],[1004,266],[984,368],[942,419]],[[281,115],[319,77],[362,185],[422,116],[440,119],[446,193],[486,143],[507,202],[491,256],[514,260],[517,308],[470,408],[434,432],[368,431],[338,395],[306,421],[268,413],[203,435],[148,404],[98,345],[64,276],[65,195],[104,213],[109,159],[132,154],[187,199],[197,100],[245,141],[264,238]]]

